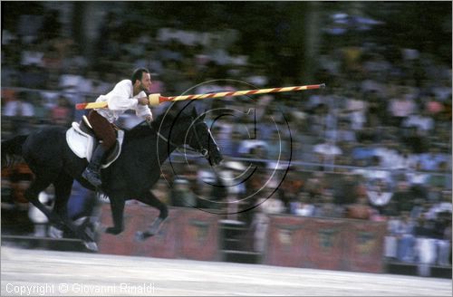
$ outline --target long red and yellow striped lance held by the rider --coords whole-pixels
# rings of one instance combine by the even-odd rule
[[[246,90],[246,91],[220,91],[215,93],[198,94],[198,95],[183,95],[164,97],[160,94],[149,95],[149,105],[157,106],[162,102],[167,101],[185,101],[185,100],[200,100],[209,98],[221,98],[221,97],[234,97],[234,96],[246,96],[246,95],[257,95],[267,94],[284,91],[304,91],[324,88],[325,84],[310,84],[306,86],[295,86],[295,87],[284,87],[284,88],[271,88],[271,89],[258,89],[258,90]],[[76,104],[77,110],[88,110],[88,109],[101,109],[107,107],[107,102],[92,102],[92,103],[79,103]]]

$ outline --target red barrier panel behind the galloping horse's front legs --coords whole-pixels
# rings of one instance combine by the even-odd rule
[[[140,255],[194,260],[218,259],[218,216],[193,208],[170,207],[158,235],[137,241],[135,233],[146,230],[159,211],[143,205],[124,208],[124,231],[120,235],[101,233],[101,254]],[[101,206],[101,225],[111,226],[111,206]]]

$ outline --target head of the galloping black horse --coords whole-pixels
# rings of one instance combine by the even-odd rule
[[[217,166],[223,156],[217,146],[216,140],[212,137],[211,131],[207,128],[205,114],[198,116],[198,113],[192,110],[187,117],[188,126],[185,127],[184,143],[189,147],[194,148],[203,157],[207,159],[211,166]]]

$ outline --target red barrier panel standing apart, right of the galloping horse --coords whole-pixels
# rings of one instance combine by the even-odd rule
[[[386,223],[271,216],[264,263],[381,273]]]

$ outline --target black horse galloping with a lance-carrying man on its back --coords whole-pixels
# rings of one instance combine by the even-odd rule
[[[171,109],[170,109],[171,110]],[[26,136],[16,136],[2,142],[2,167],[11,157],[22,156],[34,172],[34,180],[25,191],[25,197],[45,216],[54,228],[68,227],[92,250],[97,246],[86,229],[73,225],[67,216],[66,205],[76,179],[83,187],[96,190],[82,177],[88,162],[77,157],[66,143],[65,128],[51,126]],[[137,199],[159,209],[159,217],[149,229],[138,233],[141,239],[155,235],[159,225],[168,216],[168,208],[150,192],[160,177],[160,165],[173,150],[188,145],[201,153],[213,166],[222,161],[222,155],[204,122],[195,109],[173,109],[159,115],[149,125],[138,125],[126,130],[120,157],[101,171],[101,192],[111,202],[113,226],[107,233],[118,235],[123,230],[125,201]],[[55,203],[52,211],[38,200],[38,194],[53,184]],[[98,189],[99,190],[99,189]]]

